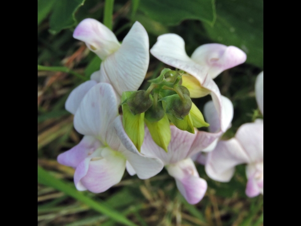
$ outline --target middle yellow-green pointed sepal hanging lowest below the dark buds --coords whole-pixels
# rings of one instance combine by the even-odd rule
[[[158,122],[151,123],[146,119],[144,119],[144,122],[155,143],[168,152],[167,148],[171,141],[172,134],[167,115],[165,115],[163,119],[159,120]]]

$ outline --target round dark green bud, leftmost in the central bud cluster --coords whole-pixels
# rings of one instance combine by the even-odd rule
[[[129,110],[133,115],[145,112],[153,104],[153,97],[146,94],[145,90],[138,90],[130,94],[126,100]]]

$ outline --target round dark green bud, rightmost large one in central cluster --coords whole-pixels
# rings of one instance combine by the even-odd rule
[[[177,119],[183,120],[189,114],[192,107],[192,101],[187,94],[183,94],[181,99],[178,94],[166,96],[161,100],[166,101],[166,113],[174,115]]]

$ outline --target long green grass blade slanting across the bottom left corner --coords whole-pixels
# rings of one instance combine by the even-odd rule
[[[122,214],[116,210],[111,209],[110,207],[96,202],[88,196],[84,195],[83,192],[77,191],[74,187],[71,187],[64,180],[57,179],[53,177],[50,173],[44,170],[42,167],[38,166],[38,183],[44,184],[46,186],[53,187],[57,190],[64,192],[65,194],[82,201],[86,205],[90,206],[92,209],[111,217],[117,222],[123,223],[124,225],[136,225],[130,220],[125,218]]]

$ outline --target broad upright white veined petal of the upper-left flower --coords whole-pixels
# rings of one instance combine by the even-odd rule
[[[124,91],[137,90],[144,80],[149,63],[148,36],[135,22],[120,48],[101,63],[100,82],[108,82],[121,96]]]

